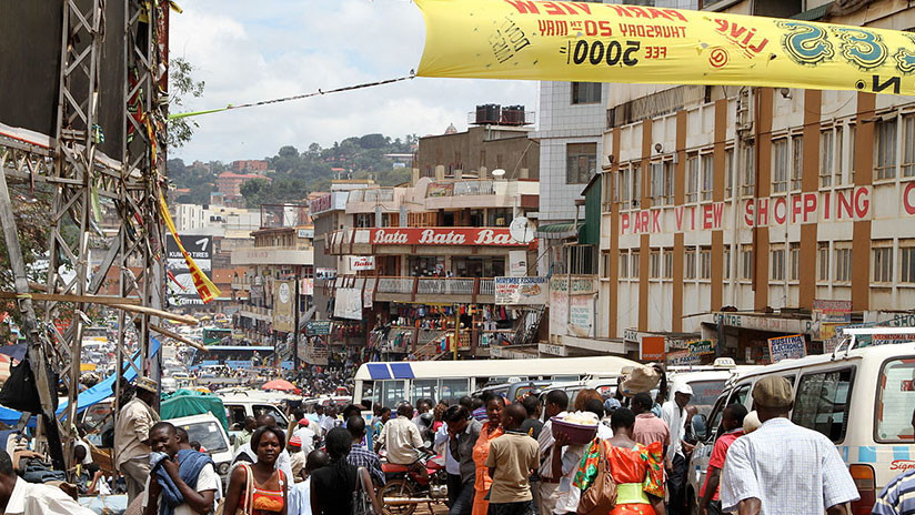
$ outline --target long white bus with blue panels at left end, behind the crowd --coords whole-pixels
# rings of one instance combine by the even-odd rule
[[[355,373],[353,400],[393,407],[419,398],[458,400],[495,383],[615,377],[634,366],[619,356],[364,363]]]

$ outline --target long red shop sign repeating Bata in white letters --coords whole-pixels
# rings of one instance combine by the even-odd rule
[[[372,229],[373,245],[489,245],[526,246],[515,241],[507,228]]]

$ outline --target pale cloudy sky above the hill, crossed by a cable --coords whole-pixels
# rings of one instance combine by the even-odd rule
[[[171,55],[187,58],[212,109],[405,75],[419,65],[425,28],[409,0],[185,0],[172,12]],[[464,130],[476,104],[536,110],[537,83],[416,78],[360,91],[207,114],[170,156],[233,161],[304,150],[351,135]]]

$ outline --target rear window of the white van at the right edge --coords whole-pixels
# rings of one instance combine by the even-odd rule
[[[912,444],[912,405],[915,403],[915,360],[892,360],[877,380],[877,413],[874,440]]]

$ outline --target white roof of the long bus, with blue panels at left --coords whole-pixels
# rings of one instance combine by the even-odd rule
[[[542,360],[412,361],[364,363],[356,381],[439,377],[505,377],[619,374],[639,363],[619,356],[549,357]]]

